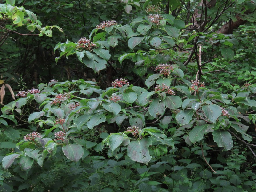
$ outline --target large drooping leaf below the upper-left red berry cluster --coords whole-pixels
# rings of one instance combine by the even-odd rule
[[[99,58],[97,55],[92,54],[92,58],[88,59],[86,57],[83,58],[83,63],[92,68],[94,73],[106,68],[107,61],[104,59]]]

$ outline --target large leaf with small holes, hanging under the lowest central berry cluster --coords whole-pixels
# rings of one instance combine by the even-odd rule
[[[148,151],[148,147],[150,145],[152,145],[152,141],[148,138],[132,141],[127,146],[127,155],[133,161],[148,165],[148,162],[152,158],[152,156],[150,156]]]

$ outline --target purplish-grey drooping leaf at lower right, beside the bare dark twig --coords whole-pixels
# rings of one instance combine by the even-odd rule
[[[224,147],[224,151],[228,151],[233,147],[233,140],[230,133],[226,130],[217,129],[214,130],[213,133],[213,140],[217,143],[219,147]]]

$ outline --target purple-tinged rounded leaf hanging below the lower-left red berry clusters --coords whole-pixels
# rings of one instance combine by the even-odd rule
[[[62,147],[64,155],[71,161],[77,162],[84,155],[84,149],[78,144],[68,144]]]

